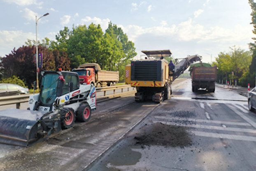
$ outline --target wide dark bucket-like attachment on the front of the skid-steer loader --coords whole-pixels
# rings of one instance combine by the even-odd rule
[[[60,120],[56,117],[41,119],[44,114],[45,112],[22,109],[0,111],[0,143],[31,146],[60,132]]]

